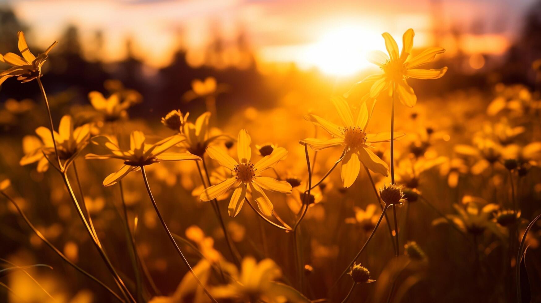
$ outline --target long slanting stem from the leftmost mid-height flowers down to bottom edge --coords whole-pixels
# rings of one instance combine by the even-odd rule
[[[68,167],[65,168],[64,172],[62,173],[62,179],[64,180],[64,185],[68,189],[69,196],[71,197],[71,201],[74,203],[75,209],[77,210],[77,214],[79,215],[79,218],[84,224],[85,229],[87,229],[88,234],[90,235],[90,238],[93,240],[94,246],[96,247],[98,253],[100,253],[101,258],[103,259],[105,265],[113,275],[113,278],[115,278],[116,285],[122,292],[122,295],[126,298],[126,301],[129,302],[136,302],[135,299],[131,296],[130,292],[128,291],[128,287],[124,284],[122,279],[120,278],[120,275],[116,272],[115,267],[113,264],[111,264],[111,261],[107,257],[107,254],[105,254],[105,251],[103,250],[103,247],[101,246],[100,240],[97,239],[97,235],[94,234],[93,230],[91,229],[90,225],[87,222],[87,219],[84,217],[84,214],[81,210],[81,206],[77,202],[77,198],[75,197],[75,193],[73,192],[73,189],[71,188],[69,179],[68,179]]]

